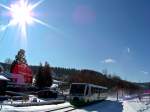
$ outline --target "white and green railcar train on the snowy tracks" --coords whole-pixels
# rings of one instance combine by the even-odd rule
[[[69,101],[74,106],[82,106],[102,101],[105,100],[107,96],[107,87],[89,83],[72,83],[70,86]]]

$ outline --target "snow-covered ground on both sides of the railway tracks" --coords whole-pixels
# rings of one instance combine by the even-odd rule
[[[81,109],[73,109],[72,112],[150,112],[150,100],[139,101],[138,98],[132,100],[116,101],[114,98],[108,98],[106,101],[95,103]],[[61,107],[67,107],[70,104],[63,103],[58,105],[44,105],[31,107],[12,107],[3,105],[1,112],[44,112]],[[57,110],[56,112],[64,112],[64,110]]]

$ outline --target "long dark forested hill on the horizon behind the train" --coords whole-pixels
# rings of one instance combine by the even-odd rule
[[[9,64],[0,63],[0,65],[2,65],[5,70],[9,71]],[[33,75],[35,75],[37,73],[38,66],[31,65],[30,67],[33,71]],[[106,86],[110,89],[124,89],[130,91],[137,91],[143,88],[143,86],[140,86],[140,84],[122,80],[119,76],[108,75],[93,70],[77,70],[61,67],[51,67],[51,69],[53,70],[53,78],[69,83],[92,83],[96,85]]]

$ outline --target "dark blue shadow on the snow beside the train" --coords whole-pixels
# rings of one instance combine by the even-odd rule
[[[118,101],[105,100],[102,102],[92,103],[80,110],[87,112],[123,112],[123,105]]]

